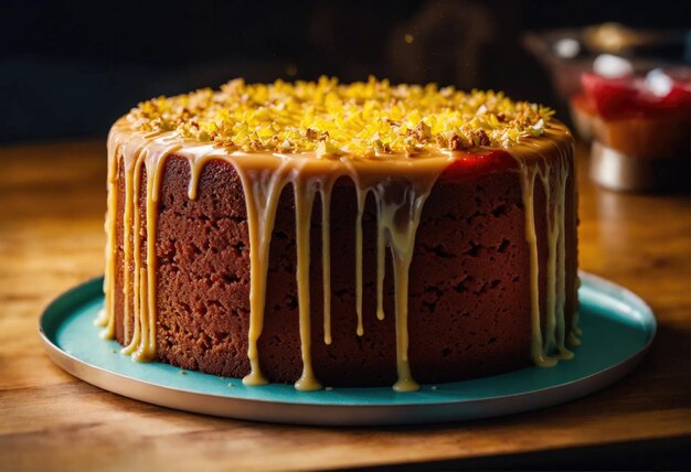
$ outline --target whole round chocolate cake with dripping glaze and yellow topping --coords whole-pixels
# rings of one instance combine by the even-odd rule
[[[546,107],[235,79],[139,104],[108,155],[99,322],[136,361],[408,391],[578,343],[573,139]]]

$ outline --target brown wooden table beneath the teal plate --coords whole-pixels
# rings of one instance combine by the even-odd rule
[[[683,466],[691,438],[689,196],[598,190],[586,178],[586,149],[578,154],[581,267],[639,293],[659,320],[658,339],[640,367],[600,393],[540,411],[456,425],[338,429],[159,408],[55,366],[36,323],[51,299],[103,272],[105,140],[0,148],[0,470],[421,462],[606,469],[627,458],[629,468],[637,466],[641,451]]]

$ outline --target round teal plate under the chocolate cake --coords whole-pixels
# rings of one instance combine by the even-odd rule
[[[581,273],[582,344],[552,368],[509,374],[418,391],[337,388],[297,391],[293,385],[245,387],[237,378],[136,363],[115,341],[104,341],[94,319],[103,307],[103,279],[62,294],[45,310],[40,332],[51,358],[70,374],[106,390],[151,404],[232,418],[304,425],[404,425],[514,414],[573,400],[619,379],[652,342],[656,321],[636,294]]]

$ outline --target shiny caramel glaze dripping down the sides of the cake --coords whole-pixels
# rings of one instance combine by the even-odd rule
[[[383,154],[368,158],[327,155],[317,158],[313,153],[247,153],[227,152],[212,144],[183,142],[169,132],[143,133],[131,129],[126,118],[120,119],[110,130],[108,138],[108,210],[106,215],[106,270],[104,291],[105,312],[97,320],[104,326],[103,335],[115,334],[116,289],[116,227],[118,226],[117,174],[124,175],[124,265],[134,270],[124,270],[121,297],[123,329],[127,345],[123,352],[136,361],[156,358],[157,321],[157,260],[156,237],[146,238],[146,250],[138,235],[156,235],[157,210],[160,179],[166,160],[170,155],[188,159],[191,169],[189,199],[194,200],[198,182],[205,163],[222,160],[230,163],[240,175],[245,195],[247,225],[249,233],[249,332],[248,351],[251,372],[243,379],[246,385],[262,385],[267,380],[262,373],[257,341],[262,335],[267,267],[272,232],[278,200],[285,187],[293,187],[295,196],[295,222],[297,239],[297,288],[299,307],[299,334],[302,357],[302,375],[296,382],[299,390],[321,388],[316,378],[310,356],[310,232],[315,200],[321,204],[322,230],[322,280],[323,280],[323,342],[331,343],[330,321],[330,254],[329,222],[330,197],[334,182],[347,176],[352,180],[358,199],[357,242],[355,242],[355,313],[357,332],[362,336],[362,214],[368,194],[373,194],[376,210],[376,315],[383,320],[383,287],[385,248],[391,251],[394,279],[394,313],[396,340],[397,380],[393,388],[410,391],[418,388],[411,374],[408,362],[408,273],[415,246],[415,235],[427,196],[435,182],[445,171],[455,165],[471,165],[474,160],[491,153],[507,152],[498,149],[477,149],[474,153],[435,151],[419,155]],[[568,130],[556,121],[551,121],[540,138],[525,138],[508,151],[515,161],[520,174],[525,217],[525,240],[530,249],[531,277],[531,355],[538,366],[553,366],[559,360],[567,360],[573,354],[566,344],[576,345],[580,330],[577,318],[566,325],[565,304],[567,298],[567,275],[565,269],[566,232],[574,230],[575,222],[567,222],[567,214],[575,215],[575,206],[567,211],[567,202],[576,205],[576,199],[567,199],[573,187],[573,140]],[[146,189],[141,189],[142,178]],[[538,236],[535,234],[536,186],[545,195],[548,215],[548,260],[540,264]],[[145,199],[143,218],[139,208]],[[119,203],[121,205],[121,202]],[[575,217],[575,216],[574,216]],[[143,255],[143,258],[142,258]],[[540,273],[546,267],[546,275]],[[540,277],[546,276],[546,294],[541,298]],[[134,280],[129,280],[129,278]],[[574,286],[575,283],[571,283]],[[131,300],[131,302],[129,302]],[[541,302],[541,300],[543,300]],[[131,304],[131,312],[129,305]],[[541,309],[544,304],[544,310]],[[134,326],[131,333],[129,326]]]

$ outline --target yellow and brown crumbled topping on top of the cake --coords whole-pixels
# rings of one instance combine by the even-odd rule
[[[315,151],[321,158],[510,148],[543,135],[552,115],[501,92],[321,77],[294,84],[234,79],[216,92],[143,101],[127,119],[142,132],[167,131],[228,151]]]

